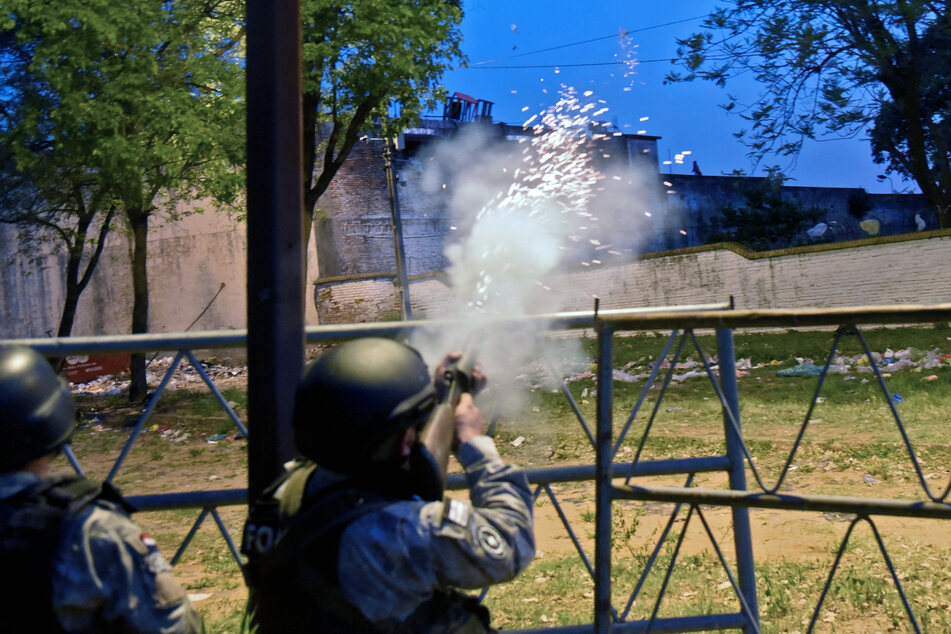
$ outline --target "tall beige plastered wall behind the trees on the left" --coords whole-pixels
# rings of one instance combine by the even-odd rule
[[[2,339],[52,336],[59,325],[65,256],[54,252],[31,261],[17,255],[22,246],[15,228],[0,225],[0,258],[5,262],[0,267]],[[165,225],[153,221],[148,248],[151,332],[183,332],[199,315],[192,331],[247,326],[247,226],[243,222],[213,210]],[[130,252],[130,238],[121,230],[113,231],[79,300],[73,335],[130,332]],[[308,324],[317,323],[311,295],[314,260],[308,266],[304,291]]]

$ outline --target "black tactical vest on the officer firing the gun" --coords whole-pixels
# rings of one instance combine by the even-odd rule
[[[286,474],[252,506],[242,539],[249,616],[262,634],[485,634],[488,610],[475,597],[435,591],[404,622],[371,622],[338,587],[337,551],[344,529],[360,517],[405,499],[359,486],[353,479],[306,500],[315,465]],[[273,493],[282,484],[280,502]]]

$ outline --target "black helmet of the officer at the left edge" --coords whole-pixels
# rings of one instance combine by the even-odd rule
[[[73,433],[66,381],[32,348],[0,346],[0,473],[53,453]]]

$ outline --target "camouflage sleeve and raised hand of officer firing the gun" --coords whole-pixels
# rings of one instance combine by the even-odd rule
[[[524,471],[493,441],[465,443],[468,501],[403,502],[364,516],[340,540],[341,589],[372,621],[405,619],[437,588],[480,588],[517,575],[535,554]]]

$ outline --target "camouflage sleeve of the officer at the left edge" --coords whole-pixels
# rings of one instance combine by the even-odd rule
[[[93,506],[68,522],[53,574],[53,605],[67,632],[201,629],[155,542],[111,508]]]

